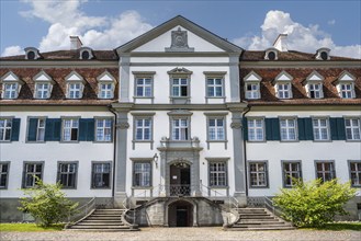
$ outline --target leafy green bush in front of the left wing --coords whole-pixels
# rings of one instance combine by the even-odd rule
[[[78,203],[70,202],[61,192],[61,184],[45,184],[36,177],[36,185],[23,190],[29,197],[22,197],[19,210],[30,213],[36,222],[43,227],[49,227],[64,220],[74,210]]]

